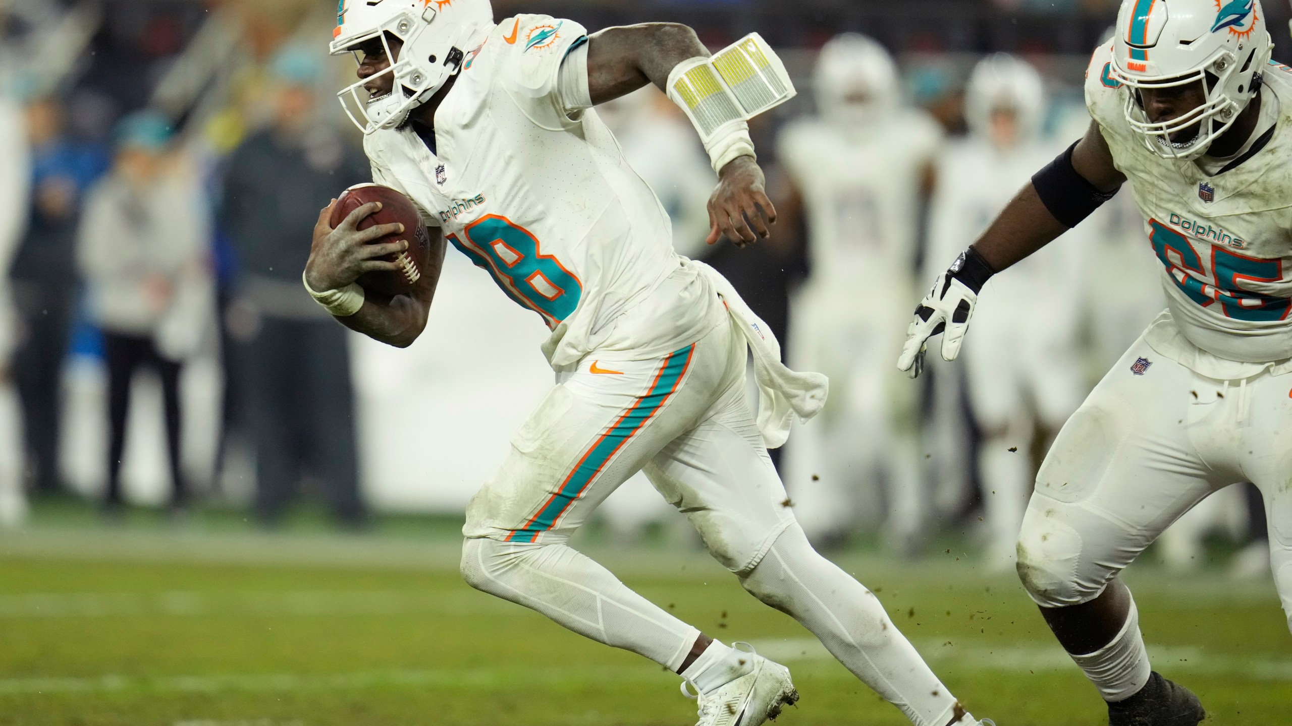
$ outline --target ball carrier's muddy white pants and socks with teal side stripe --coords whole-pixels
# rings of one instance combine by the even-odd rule
[[[566,544],[645,469],[747,590],[802,623],[913,723],[943,726],[955,698],[875,596],[814,552],[795,522],[744,402],[744,346],[720,324],[663,358],[593,354],[558,376],[468,508],[464,577],[677,670],[699,630]]]

